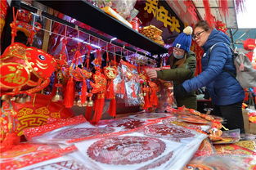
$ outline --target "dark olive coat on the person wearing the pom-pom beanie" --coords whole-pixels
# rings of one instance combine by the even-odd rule
[[[182,84],[186,79],[194,77],[195,74],[195,53],[190,51],[186,58],[176,60],[171,69],[157,71],[157,78],[166,81],[173,81],[173,87]],[[197,107],[195,92],[191,92],[189,96],[176,98],[177,106],[185,105],[186,108],[195,109]]]

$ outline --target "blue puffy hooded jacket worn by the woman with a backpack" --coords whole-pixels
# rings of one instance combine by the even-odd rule
[[[217,42],[230,44],[230,38],[217,29],[213,29],[207,42],[204,43],[204,55],[202,56],[202,73],[182,83],[186,92],[195,91],[199,87],[207,87],[209,96],[214,105],[231,105],[243,101],[245,92],[236,78],[222,69],[230,70],[236,74],[230,47],[224,43],[218,43],[209,51],[209,48]]]

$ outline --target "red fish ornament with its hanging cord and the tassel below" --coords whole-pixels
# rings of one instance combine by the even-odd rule
[[[45,51],[14,42],[19,29],[16,22],[18,15],[15,16],[14,8],[12,11],[14,20],[11,23],[11,45],[0,56],[0,96],[8,103],[6,110],[2,110],[0,121],[1,126],[4,123],[7,125],[7,131],[1,132],[1,150],[8,150],[20,141],[16,127],[17,113],[11,104],[11,96],[20,95],[16,102],[29,101],[32,93],[47,87],[56,68],[56,60]]]

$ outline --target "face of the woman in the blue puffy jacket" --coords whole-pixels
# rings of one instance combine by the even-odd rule
[[[207,41],[209,38],[210,32],[205,31],[204,29],[200,27],[196,27],[194,30],[194,40],[198,44],[199,47],[204,46],[204,43]]]

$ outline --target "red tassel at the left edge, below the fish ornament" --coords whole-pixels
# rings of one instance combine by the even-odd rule
[[[20,136],[16,132],[7,133],[4,140],[1,143],[0,151],[1,153],[7,150],[10,150],[13,145],[20,143]]]

